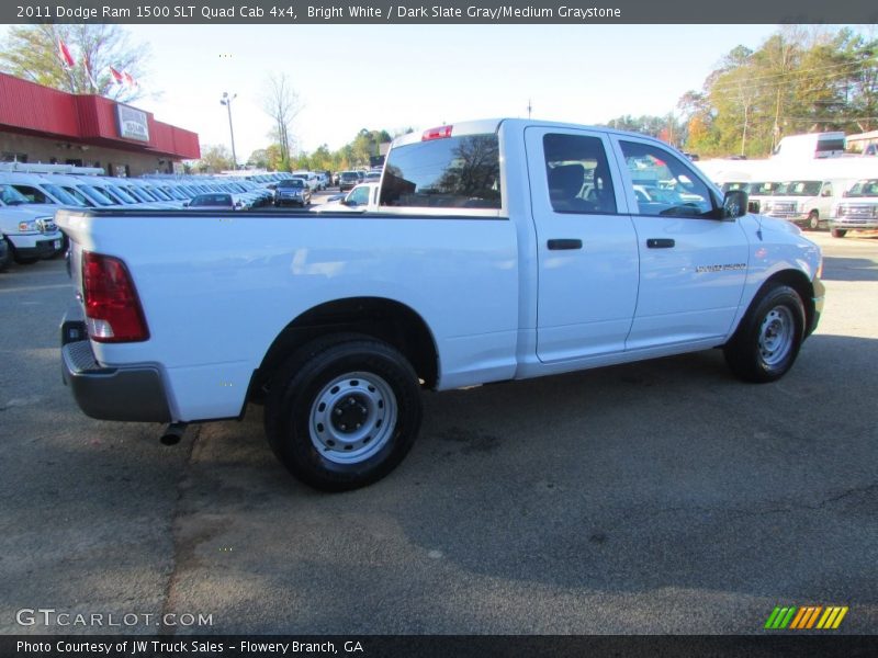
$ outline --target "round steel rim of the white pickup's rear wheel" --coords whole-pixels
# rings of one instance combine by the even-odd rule
[[[384,379],[374,373],[346,373],[314,398],[308,433],[324,458],[359,464],[387,444],[397,416],[396,396]]]

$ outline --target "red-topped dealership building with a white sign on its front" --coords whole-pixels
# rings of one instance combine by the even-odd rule
[[[93,94],[0,73],[0,161],[101,167],[115,175],[172,172],[201,157],[199,136]]]

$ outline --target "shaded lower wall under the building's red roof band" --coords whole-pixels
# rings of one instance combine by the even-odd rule
[[[26,161],[31,164],[42,162],[44,164],[74,163],[82,167],[102,167],[111,175],[173,173],[173,161],[168,156],[137,154],[15,133],[0,133],[0,161],[13,160]],[[72,162],[68,162],[68,160]]]

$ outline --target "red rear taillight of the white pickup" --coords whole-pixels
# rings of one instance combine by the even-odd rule
[[[83,251],[82,293],[92,340],[137,342],[149,338],[137,291],[121,260]]]

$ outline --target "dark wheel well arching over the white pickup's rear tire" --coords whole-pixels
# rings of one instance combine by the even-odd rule
[[[261,400],[274,372],[295,350],[318,337],[340,332],[363,333],[393,345],[408,359],[424,386],[436,386],[438,353],[424,319],[398,302],[351,297],[316,306],[284,327],[254,373],[251,400]]]

